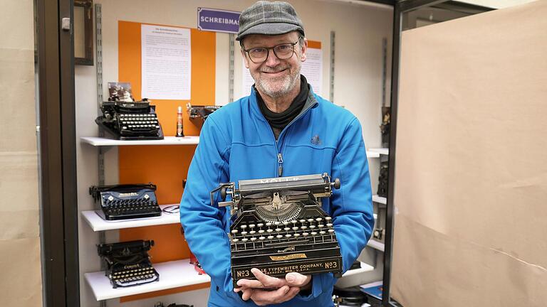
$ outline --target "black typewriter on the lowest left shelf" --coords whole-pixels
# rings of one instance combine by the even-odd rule
[[[106,264],[105,276],[110,279],[110,284],[118,288],[159,281],[160,274],[152,267],[148,256],[152,246],[152,240],[98,245],[99,256]]]

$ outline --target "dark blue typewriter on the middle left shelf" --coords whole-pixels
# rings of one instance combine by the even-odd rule
[[[100,211],[104,220],[129,220],[144,217],[159,217],[162,210],[157,205],[156,185],[126,184],[97,185],[89,188],[95,202],[100,200]]]

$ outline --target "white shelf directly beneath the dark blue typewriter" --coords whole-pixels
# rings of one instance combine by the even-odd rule
[[[179,205],[179,204],[172,204]],[[160,205],[160,208],[169,207],[172,205]],[[82,215],[86,222],[93,231],[103,231],[103,230],[117,230],[123,228],[133,228],[133,227],[143,227],[143,226],[153,226],[153,225],[166,225],[166,224],[177,224],[180,222],[178,213],[165,213],[162,212],[160,217],[147,217],[142,219],[135,220],[118,220],[118,221],[107,221],[103,220],[97,213],[100,210],[90,210],[82,211]]]

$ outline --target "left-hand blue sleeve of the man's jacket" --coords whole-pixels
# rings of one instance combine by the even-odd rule
[[[222,286],[228,296],[237,296],[231,284],[229,239],[224,232],[226,208],[219,208],[217,201],[211,205],[209,198],[211,190],[228,181],[230,145],[226,132],[209,117],[188,170],[180,222],[188,246],[214,284]]]

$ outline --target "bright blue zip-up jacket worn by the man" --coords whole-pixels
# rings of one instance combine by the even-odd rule
[[[347,271],[373,230],[374,218],[365,144],[358,119],[348,110],[313,94],[276,141],[271,126],[251,95],[207,117],[190,164],[180,203],[184,236],[204,271],[211,276],[209,306],[256,306],[234,293],[230,271],[229,208],[215,205],[209,191],[219,183],[246,179],[328,173],[341,188],[323,200],[333,217],[343,271]],[[316,274],[311,294],[298,294],[276,306],[333,306],[333,274]]]

